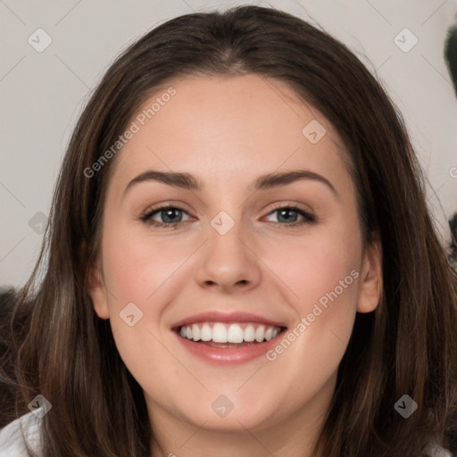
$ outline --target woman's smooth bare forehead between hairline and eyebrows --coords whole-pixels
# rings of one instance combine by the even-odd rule
[[[116,161],[118,178],[146,167],[202,178],[281,166],[341,168],[346,155],[316,108],[285,83],[253,74],[171,80],[148,97],[133,123],[137,132]]]

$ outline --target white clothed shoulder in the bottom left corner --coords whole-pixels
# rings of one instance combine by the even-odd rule
[[[0,457],[27,457],[30,450],[40,454],[40,419],[32,412],[0,430]]]

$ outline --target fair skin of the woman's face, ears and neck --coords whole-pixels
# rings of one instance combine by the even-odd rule
[[[96,313],[111,320],[165,455],[311,455],[355,313],[373,311],[381,290],[379,245],[362,250],[341,139],[320,112],[278,81],[195,77],[170,86],[176,95],[113,164],[100,258],[90,275]],[[311,120],[327,130],[314,145],[302,134]],[[145,181],[124,195],[131,179],[151,169],[187,171],[204,181],[204,189]],[[260,175],[298,169],[319,173],[337,194],[312,179],[248,190]],[[139,220],[168,203],[184,210],[174,215],[182,219],[178,228]],[[296,204],[317,222],[287,227],[273,204]],[[220,211],[235,221],[223,236],[211,225]],[[154,214],[154,220],[164,218]],[[213,309],[257,313],[290,330],[351,270],[358,278],[275,361],[212,366],[188,353],[170,330],[178,320]],[[133,327],[119,316],[131,302],[143,312]],[[212,410],[220,395],[234,404],[224,418]],[[154,448],[153,455],[160,453]]]

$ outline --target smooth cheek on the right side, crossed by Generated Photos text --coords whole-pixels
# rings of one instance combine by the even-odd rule
[[[284,248],[275,271],[294,292],[290,303],[296,321],[290,339],[281,340],[270,360],[276,359],[278,370],[296,380],[296,389],[307,391],[318,388],[335,373],[351,337],[361,240],[357,230],[340,226]],[[307,387],[303,378],[310,382]]]

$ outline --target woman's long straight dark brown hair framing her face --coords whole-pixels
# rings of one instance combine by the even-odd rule
[[[33,296],[15,368],[23,402],[41,394],[53,404],[42,422],[45,457],[146,456],[154,439],[142,390],[86,287],[116,159],[92,178],[84,170],[171,79],[246,73],[286,82],[335,126],[352,163],[364,242],[378,237],[382,246],[382,299],[375,312],[357,314],[316,449],[326,457],[417,457],[436,439],[455,451],[457,278],[402,116],[328,33],[286,12],[243,6],[151,30],[112,64],[79,118],[40,260],[18,303]],[[409,419],[394,409],[404,394],[419,405]]]

